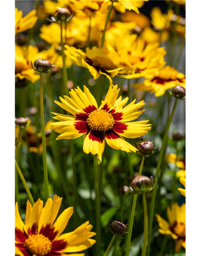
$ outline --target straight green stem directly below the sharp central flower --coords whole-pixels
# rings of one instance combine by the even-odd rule
[[[98,166],[97,158],[94,155],[94,187],[95,187],[95,211],[96,211],[96,255],[100,255],[101,244],[101,226],[100,226],[100,200],[99,200],[99,184],[98,184]]]

